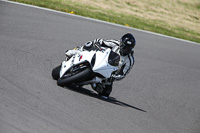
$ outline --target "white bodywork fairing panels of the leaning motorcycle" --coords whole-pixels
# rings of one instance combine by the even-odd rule
[[[99,73],[103,75],[106,79],[110,78],[113,71],[116,71],[118,69],[117,66],[111,66],[108,63],[108,57],[111,52],[111,49],[103,49],[102,51],[81,51],[80,53],[75,54],[72,56],[68,61],[63,61],[61,65],[60,70],[60,78],[65,74],[67,70],[71,68],[71,66],[74,66],[76,64],[79,64],[81,62],[85,62],[87,60],[89,63],[91,63],[91,60],[93,56],[96,53],[96,60],[95,64],[92,67],[93,72]],[[104,79],[105,79],[104,78]],[[91,82],[101,82],[103,79],[99,77],[95,77]]]

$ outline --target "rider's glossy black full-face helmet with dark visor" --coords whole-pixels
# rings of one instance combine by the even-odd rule
[[[122,36],[120,40],[120,54],[126,56],[133,51],[135,47],[135,38],[131,33],[127,33]]]

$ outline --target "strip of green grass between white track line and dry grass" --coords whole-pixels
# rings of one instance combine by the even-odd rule
[[[103,21],[126,25],[142,30],[152,31],[168,36],[182,38],[200,43],[200,33],[197,33],[187,28],[170,26],[165,22],[157,20],[148,20],[133,15],[125,15],[123,13],[116,13],[111,10],[103,11],[100,8],[95,8],[90,5],[83,5],[71,1],[63,0],[12,0],[40,7],[51,8],[62,12],[72,12],[77,15],[95,18]],[[127,3],[131,5],[131,3]],[[200,6],[197,5],[197,8]],[[199,19],[199,18],[196,18]]]

